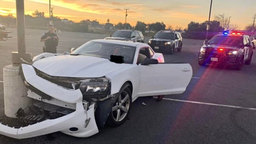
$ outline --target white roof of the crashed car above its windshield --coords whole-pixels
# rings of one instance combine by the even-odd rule
[[[91,42],[122,44],[122,45],[127,45],[127,46],[134,46],[134,47],[137,47],[137,45],[139,45],[139,44],[142,44],[142,45],[144,44],[144,43],[139,43],[139,42],[112,40],[112,39],[96,39],[96,40],[91,40]],[[147,46],[147,44],[144,44],[144,45]]]

